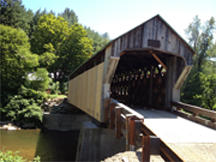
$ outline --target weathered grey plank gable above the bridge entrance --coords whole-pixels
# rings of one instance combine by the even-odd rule
[[[160,41],[160,47],[149,46],[148,40]],[[186,65],[192,65],[194,51],[158,16],[118,37],[112,44],[111,55],[115,57],[123,50],[153,49],[179,56],[185,59]]]

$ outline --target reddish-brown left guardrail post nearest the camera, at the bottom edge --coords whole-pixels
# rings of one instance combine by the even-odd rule
[[[151,138],[149,136],[143,136],[142,139],[142,162],[150,162],[150,146]]]

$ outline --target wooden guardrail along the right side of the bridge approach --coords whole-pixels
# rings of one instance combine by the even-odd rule
[[[177,113],[179,116],[188,118],[192,121],[198,122],[207,127],[216,129],[216,111],[204,109],[198,106],[194,106],[194,105],[190,105],[190,104],[186,104],[182,102],[172,101],[170,102],[170,104],[173,107],[173,110],[175,111],[175,113]],[[181,109],[184,109],[190,112],[191,114],[185,113],[181,111]]]

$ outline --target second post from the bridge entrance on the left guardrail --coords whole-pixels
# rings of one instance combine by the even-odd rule
[[[121,112],[122,108],[121,107],[116,107],[115,108],[115,137],[117,139],[121,138]]]

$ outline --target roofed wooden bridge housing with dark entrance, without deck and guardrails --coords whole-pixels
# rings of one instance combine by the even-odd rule
[[[111,41],[70,75],[68,101],[99,122],[104,99],[171,109],[192,68],[193,48],[160,16]]]

